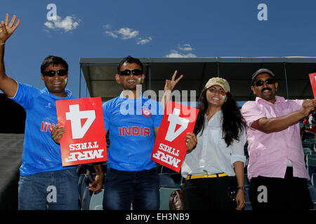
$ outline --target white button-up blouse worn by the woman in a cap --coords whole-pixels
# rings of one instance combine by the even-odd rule
[[[204,117],[204,130],[197,134],[197,146],[185,155],[181,167],[183,177],[187,175],[218,174],[225,173],[235,176],[233,164],[237,161],[246,162],[244,156],[244,144],[246,143],[246,131],[239,136],[239,141],[232,141],[227,147],[223,139],[221,121],[223,112],[216,112],[207,122]]]

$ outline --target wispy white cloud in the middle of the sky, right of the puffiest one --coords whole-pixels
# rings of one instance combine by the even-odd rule
[[[152,41],[152,37],[144,38],[138,37],[140,31],[131,29],[129,27],[123,27],[121,29],[112,29],[110,25],[104,25],[105,34],[111,36],[112,38],[121,38],[121,39],[136,39],[138,45],[143,45]]]

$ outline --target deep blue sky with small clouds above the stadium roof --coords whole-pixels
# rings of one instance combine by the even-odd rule
[[[55,21],[47,19],[49,3]],[[257,18],[260,3],[268,20]],[[58,55],[79,97],[80,57],[315,56],[315,8],[315,0],[1,1],[1,20],[6,13],[22,20],[6,43],[6,73],[42,88],[40,64]]]

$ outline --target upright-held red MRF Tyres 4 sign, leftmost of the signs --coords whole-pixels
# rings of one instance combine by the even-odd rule
[[[56,101],[62,166],[107,161],[107,145],[100,97]]]

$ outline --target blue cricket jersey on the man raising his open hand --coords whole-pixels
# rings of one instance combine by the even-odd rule
[[[67,97],[57,97],[46,88],[40,90],[32,85],[18,83],[18,90],[11,99],[20,104],[27,115],[21,176],[73,168],[62,167],[60,146],[51,137],[51,130],[58,124],[55,101],[74,98],[69,90],[65,91]]]

